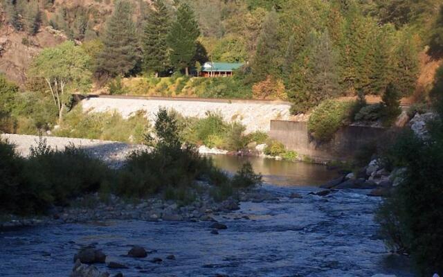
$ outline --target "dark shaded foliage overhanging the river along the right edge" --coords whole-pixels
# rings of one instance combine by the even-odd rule
[[[408,129],[383,152],[385,161],[406,172],[379,208],[377,220],[388,245],[410,253],[420,276],[443,273],[442,93],[431,93],[438,117],[426,123],[428,135],[419,138]]]

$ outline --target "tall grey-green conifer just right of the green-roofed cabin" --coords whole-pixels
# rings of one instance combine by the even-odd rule
[[[280,66],[280,34],[278,15],[272,11],[267,15],[258,38],[257,51],[251,65],[253,80],[262,81],[268,75],[278,76]]]

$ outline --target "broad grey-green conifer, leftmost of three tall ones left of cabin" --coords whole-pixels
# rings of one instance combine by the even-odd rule
[[[137,38],[132,6],[127,0],[116,2],[115,10],[107,21],[104,48],[97,57],[96,72],[111,77],[127,75],[138,60]]]

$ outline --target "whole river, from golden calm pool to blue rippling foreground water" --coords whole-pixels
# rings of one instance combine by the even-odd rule
[[[243,161],[215,157],[226,170]],[[125,263],[129,269],[108,269],[125,276],[413,276],[408,260],[390,255],[377,236],[373,215],[379,198],[363,190],[307,195],[336,174],[306,163],[250,161],[264,175],[262,189],[278,201],[243,202],[241,210],[216,216],[228,226],[219,235],[210,233],[210,222],[94,222],[8,231],[0,233],[1,276],[69,276],[73,255],[89,244]],[[291,199],[291,193],[303,198]],[[154,253],[125,257],[133,244]],[[170,254],[177,259],[166,260]],[[163,262],[150,262],[157,257]]]

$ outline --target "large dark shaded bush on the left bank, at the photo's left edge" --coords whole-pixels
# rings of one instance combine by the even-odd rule
[[[73,197],[109,186],[114,175],[81,150],[53,150],[44,139],[31,148],[28,159],[18,157],[5,142],[0,143],[0,151],[0,209],[12,213],[42,213],[53,205],[66,205]]]

